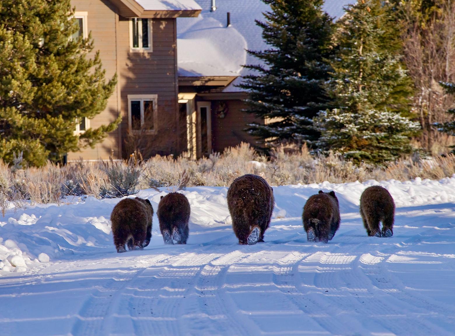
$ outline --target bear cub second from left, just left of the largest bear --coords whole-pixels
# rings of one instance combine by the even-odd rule
[[[165,244],[174,244],[173,240],[177,244],[187,244],[190,212],[190,203],[185,195],[168,193],[161,196],[157,216]]]

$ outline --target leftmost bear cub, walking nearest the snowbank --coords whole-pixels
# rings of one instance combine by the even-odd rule
[[[153,208],[148,199],[122,199],[111,213],[112,234],[117,252],[143,249],[152,238]]]

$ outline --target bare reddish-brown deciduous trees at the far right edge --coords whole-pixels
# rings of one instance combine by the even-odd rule
[[[424,130],[421,143],[431,153],[440,137],[433,124],[450,121],[445,112],[454,104],[454,97],[438,83],[455,81],[455,1],[395,3],[403,28],[404,62],[415,84],[415,112]]]

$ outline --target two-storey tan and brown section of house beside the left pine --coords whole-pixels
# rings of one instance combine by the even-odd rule
[[[146,143],[148,155],[185,150],[179,136],[177,17],[196,17],[201,7],[193,0],[71,0],[71,5],[81,27],[76,35],[91,32],[106,78],[118,78],[106,109],[82,121],[75,132],[119,114],[123,118],[102,143],[68,153],[68,160],[126,158],[128,134]]]

